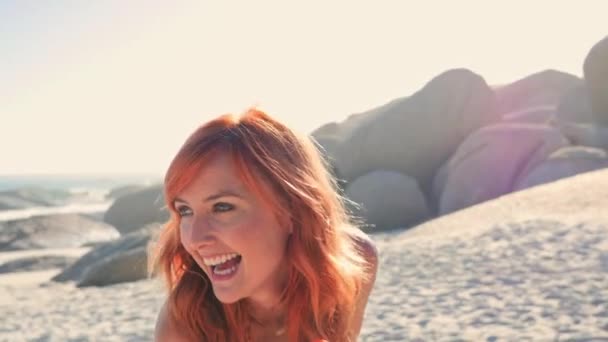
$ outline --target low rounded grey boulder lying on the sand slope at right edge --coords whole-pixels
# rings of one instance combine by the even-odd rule
[[[519,179],[514,190],[518,191],[607,167],[608,153],[605,150],[583,146],[563,147]]]

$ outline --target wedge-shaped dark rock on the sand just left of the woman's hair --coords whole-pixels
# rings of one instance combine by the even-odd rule
[[[74,281],[77,286],[106,286],[145,279],[148,244],[160,227],[160,223],[148,224],[97,246],[52,280]]]

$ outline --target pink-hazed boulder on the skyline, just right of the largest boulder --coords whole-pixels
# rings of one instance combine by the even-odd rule
[[[557,106],[570,89],[583,83],[580,78],[557,70],[544,70],[509,85],[497,87],[498,110],[510,113],[524,108]]]

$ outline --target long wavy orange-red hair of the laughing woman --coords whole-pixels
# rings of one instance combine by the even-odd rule
[[[229,153],[244,184],[291,224],[287,241],[290,341],[351,341],[352,314],[368,267],[334,178],[315,144],[258,109],[224,115],[198,128],[165,176],[170,219],[154,246],[150,272],[164,276],[170,318],[199,341],[249,341],[254,318],[244,300],[221,303],[180,241],[176,196],[215,153]],[[260,177],[261,176],[261,177]],[[260,180],[261,179],[261,180]]]

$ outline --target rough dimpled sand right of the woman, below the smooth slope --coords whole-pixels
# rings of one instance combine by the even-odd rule
[[[606,226],[510,223],[382,261],[362,340],[608,340]]]

